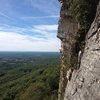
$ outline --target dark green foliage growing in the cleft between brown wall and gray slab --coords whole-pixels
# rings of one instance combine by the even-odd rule
[[[68,0],[68,14],[80,25],[75,39],[77,52],[84,49],[85,36],[94,20],[98,1],[99,0]]]

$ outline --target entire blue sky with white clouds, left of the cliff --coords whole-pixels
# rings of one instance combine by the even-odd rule
[[[0,51],[59,51],[58,0],[0,0]]]

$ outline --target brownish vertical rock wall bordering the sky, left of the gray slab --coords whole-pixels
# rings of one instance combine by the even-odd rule
[[[77,62],[77,55],[75,54],[75,38],[78,30],[78,23],[75,22],[71,16],[67,15],[67,0],[62,0],[60,3],[61,12],[57,37],[61,39],[61,70],[58,100],[62,100],[64,97],[67,78],[70,78],[73,70],[69,70],[69,68],[73,67]],[[66,72],[68,70],[69,76],[66,78]]]

